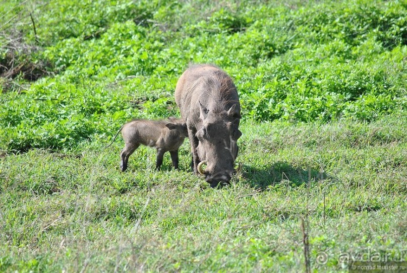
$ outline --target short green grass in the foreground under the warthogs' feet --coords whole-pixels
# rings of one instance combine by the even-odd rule
[[[0,268],[301,271],[305,214],[313,268],[319,251],[328,253],[331,271],[345,268],[338,262],[345,251],[404,251],[402,117],[244,122],[243,170],[223,189],[192,175],[187,143],[180,171],[166,157],[155,172],[155,152],[143,147],[121,173],[120,142],[7,155],[0,161]]]

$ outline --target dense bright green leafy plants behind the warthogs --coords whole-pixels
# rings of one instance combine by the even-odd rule
[[[3,95],[2,149],[74,147],[135,117],[177,115],[173,90],[190,62],[235,79],[245,119],[371,121],[405,107],[401,2],[201,3],[201,15],[173,1],[71,4],[33,13],[38,58],[59,75]]]

